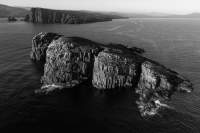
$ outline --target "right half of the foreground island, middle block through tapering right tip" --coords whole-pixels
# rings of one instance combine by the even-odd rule
[[[93,86],[98,89],[134,88],[142,116],[155,115],[175,92],[191,92],[192,84],[178,73],[143,58],[110,51],[95,57]]]

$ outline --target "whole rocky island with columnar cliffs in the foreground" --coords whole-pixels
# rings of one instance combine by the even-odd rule
[[[129,88],[138,95],[141,115],[149,116],[166,106],[175,92],[193,90],[189,80],[143,57],[139,48],[104,45],[55,33],[40,33],[33,40],[39,41],[33,41],[32,59],[46,57],[43,86],[37,92],[49,93],[84,83],[100,90]],[[43,52],[36,52],[38,49]]]

